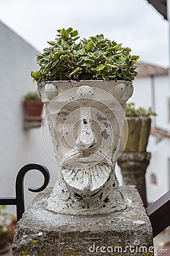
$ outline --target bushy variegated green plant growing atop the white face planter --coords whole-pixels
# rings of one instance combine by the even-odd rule
[[[122,47],[104,35],[80,40],[78,31],[62,28],[50,47],[37,55],[40,70],[31,72],[33,82],[52,80],[134,80],[139,56],[130,55],[129,47]]]

